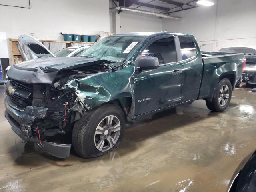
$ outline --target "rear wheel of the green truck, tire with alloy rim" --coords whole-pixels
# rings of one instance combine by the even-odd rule
[[[227,89],[227,91],[225,91]],[[223,94],[221,93],[223,92]],[[228,97],[228,98],[227,98]],[[232,85],[226,78],[220,80],[215,89],[212,101],[206,100],[206,106],[213,112],[222,112],[230,103],[232,97]],[[221,98],[221,100],[220,100]]]

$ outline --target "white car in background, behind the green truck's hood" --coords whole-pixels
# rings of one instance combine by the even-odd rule
[[[61,50],[58,50],[54,53],[56,57],[76,57],[80,55],[84,50],[88,49],[90,45],[87,46],[73,46],[73,47],[66,47]]]

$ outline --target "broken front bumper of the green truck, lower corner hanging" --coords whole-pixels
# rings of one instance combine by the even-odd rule
[[[5,98],[4,104],[6,108],[4,116],[10,123],[12,130],[22,140],[38,144],[38,138],[29,134],[29,127],[31,128],[36,118],[44,118],[48,108],[33,106],[21,107],[14,104],[9,96]],[[48,141],[42,141],[42,146],[39,146],[49,154],[59,158],[67,158],[71,149],[70,144],[58,144]]]

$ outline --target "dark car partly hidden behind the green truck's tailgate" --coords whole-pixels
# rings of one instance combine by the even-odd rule
[[[242,79],[236,84],[239,86],[241,82],[248,84],[256,84],[256,47],[226,47],[219,50],[228,53],[243,53],[246,58],[246,66],[242,74]]]

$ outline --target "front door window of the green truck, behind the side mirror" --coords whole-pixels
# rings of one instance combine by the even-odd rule
[[[142,52],[142,57],[156,57],[159,64],[177,61],[177,53],[174,38],[163,38],[156,40]]]

